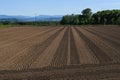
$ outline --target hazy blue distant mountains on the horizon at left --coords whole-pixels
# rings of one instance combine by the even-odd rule
[[[13,20],[16,19],[18,21],[60,21],[62,19],[62,15],[39,15],[39,16],[8,16],[8,15],[0,15],[0,20]]]

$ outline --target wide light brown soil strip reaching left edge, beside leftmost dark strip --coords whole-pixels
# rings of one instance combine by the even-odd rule
[[[53,31],[56,31],[56,30],[57,29]],[[11,60],[11,58],[15,58],[19,54],[25,54],[26,50],[28,50],[27,48],[37,43],[43,42],[47,37],[51,35],[51,33],[52,33],[51,30],[42,31],[42,32],[37,33],[38,35],[36,36],[31,35],[29,37],[26,37],[25,39],[23,38],[22,41],[14,42],[14,44],[11,44],[11,45],[7,44],[8,46],[0,48],[0,63],[1,63],[0,66],[3,63]],[[47,35],[47,37],[45,37],[45,35]]]

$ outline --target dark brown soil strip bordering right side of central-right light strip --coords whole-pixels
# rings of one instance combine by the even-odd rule
[[[101,50],[97,45],[95,45],[95,43],[93,41],[91,41],[88,36],[85,35],[84,32],[81,32],[82,30],[80,30],[81,28],[77,29],[76,31],[79,33],[79,36],[86,41],[86,44],[88,45],[88,47],[93,51],[93,53],[95,54],[95,56],[98,58],[100,63],[109,63],[112,60],[110,59],[110,57],[108,55],[106,55],[105,52],[103,52],[103,50]]]

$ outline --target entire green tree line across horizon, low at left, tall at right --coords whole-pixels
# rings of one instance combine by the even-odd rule
[[[0,19],[3,25],[38,25],[38,26],[58,26],[58,25],[120,25],[120,10],[103,10],[92,13],[90,8],[84,9],[81,14],[63,16],[59,21],[19,21],[15,18]]]

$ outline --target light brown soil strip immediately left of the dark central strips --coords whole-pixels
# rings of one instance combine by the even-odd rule
[[[60,45],[60,41],[63,38],[63,35],[66,31],[64,28],[60,34],[52,41],[51,45],[48,46],[44,52],[37,58],[37,60],[31,65],[31,68],[42,68],[50,65],[52,62],[53,55],[55,54],[58,46]]]

